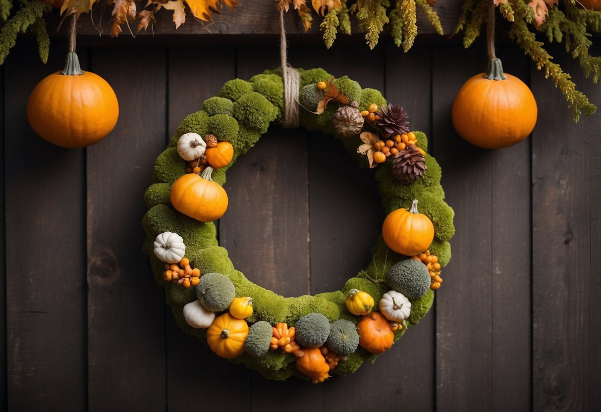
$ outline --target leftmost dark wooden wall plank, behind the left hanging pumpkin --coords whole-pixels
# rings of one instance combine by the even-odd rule
[[[21,39],[4,65],[8,410],[87,406],[85,153],[47,143],[26,118],[63,52],[43,65]]]

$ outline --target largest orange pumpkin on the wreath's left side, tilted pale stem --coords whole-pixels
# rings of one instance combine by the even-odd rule
[[[213,168],[204,169],[199,176],[188,173],[171,186],[171,204],[185,214],[201,222],[213,222],[227,210],[228,197],[223,187],[211,179]]]

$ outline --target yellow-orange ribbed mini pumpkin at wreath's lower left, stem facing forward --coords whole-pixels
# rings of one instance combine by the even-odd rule
[[[207,329],[209,347],[226,359],[233,359],[244,353],[246,336],[248,336],[248,323],[227,313],[216,317]]]

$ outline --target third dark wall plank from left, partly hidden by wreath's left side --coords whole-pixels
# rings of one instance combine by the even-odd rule
[[[200,110],[204,99],[216,95],[227,80],[234,78],[234,57],[233,47],[206,48],[203,53],[190,48],[169,49],[169,136],[186,115]],[[202,80],[191,84],[186,79]],[[189,410],[199,399],[203,399],[206,410],[249,410],[249,372],[244,366],[219,358],[196,338],[183,333],[169,307],[165,316],[169,411]],[[194,355],[172,348],[194,348]],[[228,386],[223,384],[226,381]],[[231,396],[231,386],[236,386],[236,396]]]

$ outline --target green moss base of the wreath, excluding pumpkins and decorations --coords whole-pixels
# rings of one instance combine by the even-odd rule
[[[321,98],[319,93],[314,92],[314,85],[332,76],[321,68],[299,71],[301,71],[299,101],[305,108],[314,109],[317,101]],[[342,94],[349,97],[350,101],[358,101],[360,111],[366,110],[371,103],[376,103],[378,106],[386,104],[386,100],[379,91],[370,88],[362,89],[359,83],[346,76],[335,80],[334,84]],[[301,109],[301,127],[334,134],[332,115],[339,107],[340,105],[333,101],[328,104],[322,115],[315,115]],[[344,304],[350,289],[354,288],[370,294],[375,303],[373,310],[379,311],[380,297],[389,288],[384,283],[376,285],[370,279],[378,279],[383,282],[384,274],[393,264],[407,259],[407,256],[401,256],[389,250],[380,236],[371,250],[370,264],[355,276],[349,274],[353,277],[350,277],[344,286],[341,285],[343,286],[341,291],[283,297],[255,285],[234,268],[227,250],[218,245],[215,223],[199,222],[174,210],[169,201],[169,191],[171,184],[185,174],[186,167],[186,162],[177,153],[177,142],[180,136],[185,133],[197,133],[200,136],[212,134],[219,141],[228,141],[233,145],[233,160],[224,168],[216,169],[212,175],[216,183],[223,185],[225,173],[234,164],[237,157],[257,143],[260,136],[269,128],[270,123],[278,122],[277,119],[281,117],[283,111],[284,86],[279,70],[264,71],[262,74],[251,77],[248,81],[233,79],[225,83],[218,96],[205,100],[200,111],[188,115],[183,120],[166,150],[157,157],[152,175],[153,184],[148,187],[144,196],[148,212],[142,220],[142,226],[147,235],[143,246],[144,252],[150,259],[157,283],[165,287],[166,301],[171,306],[178,325],[186,333],[197,336],[203,344],[206,344],[206,329],[195,329],[189,326],[183,317],[183,307],[197,300],[197,287],[192,286],[186,289],[174,282],[163,282],[164,262],[154,255],[153,242],[157,235],[166,231],[176,232],[182,236],[186,244],[186,257],[194,267],[200,269],[202,274],[224,274],[234,285],[236,297],[252,297],[254,311],[246,319],[251,326],[251,341],[248,342],[246,353],[231,359],[231,362],[244,363],[248,368],[257,370],[265,377],[274,380],[284,380],[292,375],[304,379],[307,377],[297,371],[292,354],[280,350],[268,350],[262,356],[257,357],[263,353],[266,346],[267,325],[258,324],[258,327],[255,328],[254,324],[265,321],[273,326],[280,322],[285,322],[288,326],[296,326],[302,317],[312,313],[322,314],[329,323],[335,323],[342,319],[356,324],[358,317],[350,314]],[[427,151],[426,135],[421,132],[414,131],[414,133],[419,139],[419,147]],[[358,136],[341,140],[350,154],[358,158],[360,164],[367,164],[365,157],[356,153],[356,149],[361,145]],[[451,258],[451,247],[448,240],[454,234],[454,213],[453,209],[444,202],[444,191],[440,183],[440,166],[429,154],[426,154],[426,164],[427,170],[423,177],[410,185],[398,183],[398,180],[392,175],[389,163],[378,166],[376,180],[379,183],[378,187],[385,213],[401,207],[408,208],[413,199],[419,199],[419,211],[426,214],[435,227],[435,237],[430,245],[430,251],[437,255],[441,265],[445,266]],[[228,289],[222,284],[219,287]],[[421,293],[421,289],[419,292]],[[228,299],[230,299],[229,295]],[[409,297],[409,300],[412,306],[409,318],[406,319],[406,327],[395,332],[394,341],[400,339],[406,330],[427,314],[432,307],[434,293],[427,289],[423,296]],[[225,307],[225,301],[219,301],[216,304],[219,307]],[[332,325],[335,326],[332,327]],[[323,338],[325,341],[329,338],[332,348],[336,348],[338,351],[347,351],[349,347],[355,345],[354,336],[350,342],[344,342],[340,341],[340,336],[336,335],[340,330],[349,329],[348,323],[328,324],[328,326],[330,327],[328,333],[325,337],[319,336],[319,340]],[[334,334],[330,333],[332,330],[334,330]],[[310,338],[316,337],[310,336]],[[332,374],[350,374],[355,372],[365,360],[373,361],[376,357],[377,355],[368,353],[359,347],[347,357],[347,360],[340,362]]]

